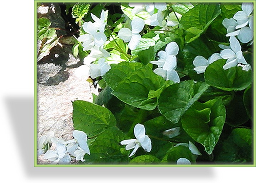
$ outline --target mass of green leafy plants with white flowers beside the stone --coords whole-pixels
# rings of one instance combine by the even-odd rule
[[[50,132],[38,154],[52,164],[253,163],[252,3],[61,6],[77,27],[76,75],[100,93],[73,102],[74,139]],[[37,20],[38,60],[63,38],[51,23]]]

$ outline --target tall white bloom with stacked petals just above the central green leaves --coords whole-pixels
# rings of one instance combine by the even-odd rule
[[[175,71],[177,67],[177,58],[179,48],[176,42],[170,42],[167,44],[165,51],[158,52],[158,61],[150,61],[151,64],[158,65],[158,68],[154,70],[155,74],[162,76],[165,80],[171,80],[175,83],[180,82],[180,77]]]

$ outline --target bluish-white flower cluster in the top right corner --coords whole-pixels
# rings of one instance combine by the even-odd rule
[[[253,38],[252,11],[253,4],[243,2],[242,11],[236,12],[233,18],[225,18],[222,24],[227,29],[226,36],[238,36],[241,43],[250,42]]]

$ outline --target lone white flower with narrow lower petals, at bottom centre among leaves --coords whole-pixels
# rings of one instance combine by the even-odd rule
[[[134,149],[129,157],[133,156],[141,146],[146,152],[151,151],[151,140],[148,135],[145,135],[146,130],[144,125],[136,124],[134,127],[134,135],[137,139],[122,140],[120,143],[126,145],[126,150]]]

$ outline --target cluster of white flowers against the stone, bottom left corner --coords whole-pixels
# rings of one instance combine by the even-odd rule
[[[87,135],[83,131],[74,130],[73,137],[72,140],[64,141],[55,138],[54,132],[50,131],[38,139],[38,155],[44,154],[44,159],[52,161],[51,164],[70,164],[71,157],[75,157],[76,161],[85,161],[84,155],[90,155]]]

